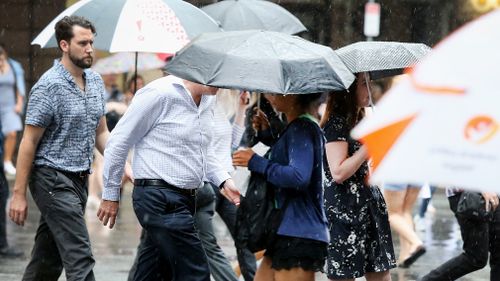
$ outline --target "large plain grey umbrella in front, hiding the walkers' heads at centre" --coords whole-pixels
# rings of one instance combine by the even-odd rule
[[[282,94],[346,89],[354,81],[331,48],[259,30],[202,34],[167,63],[166,71],[220,88]]]

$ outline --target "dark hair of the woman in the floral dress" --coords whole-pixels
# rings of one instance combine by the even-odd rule
[[[347,90],[329,93],[325,114],[320,122],[321,127],[325,127],[332,117],[339,116],[345,118],[348,128],[352,129],[364,117],[364,109],[359,110],[358,108],[356,95],[358,82],[356,78]]]

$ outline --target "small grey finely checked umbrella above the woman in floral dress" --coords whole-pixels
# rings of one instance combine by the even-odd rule
[[[430,50],[420,43],[362,41],[336,52],[353,73],[370,72],[372,79],[378,79],[403,73]]]

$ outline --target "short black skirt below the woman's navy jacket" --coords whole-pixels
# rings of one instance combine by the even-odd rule
[[[275,270],[302,268],[305,271],[323,271],[327,243],[306,238],[276,235],[264,253],[271,258]]]

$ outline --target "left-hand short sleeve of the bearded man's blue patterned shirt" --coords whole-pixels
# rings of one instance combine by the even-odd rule
[[[47,128],[54,118],[53,104],[45,87],[35,86],[28,101],[26,125]]]

